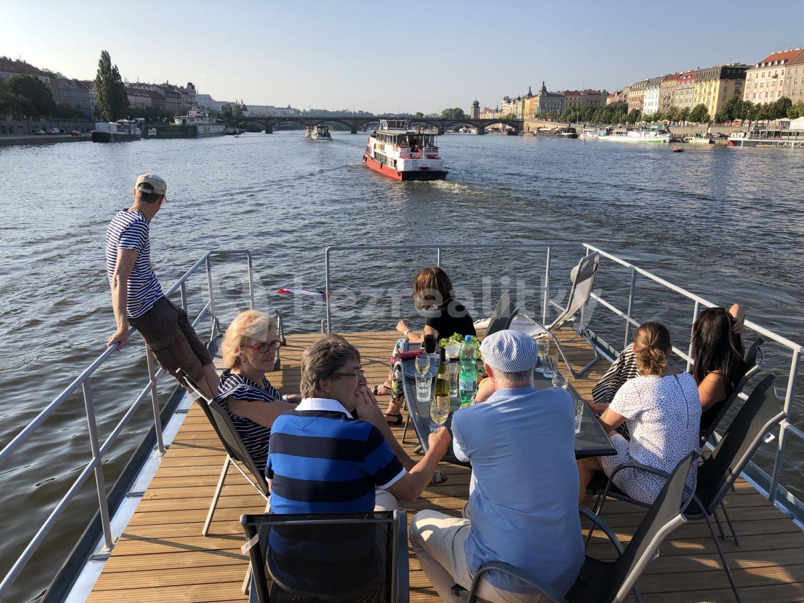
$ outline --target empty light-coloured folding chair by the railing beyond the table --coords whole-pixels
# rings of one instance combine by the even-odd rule
[[[573,377],[583,375],[585,371],[589,370],[589,367],[596,363],[597,360],[601,359],[600,352],[597,351],[597,347],[595,347],[592,337],[589,335],[589,330],[586,328],[585,324],[580,322],[578,328],[576,329],[576,336],[572,339],[580,337],[586,343],[589,343],[595,352],[595,357],[589,363],[587,363],[585,367],[582,367],[580,370],[576,371],[569,363],[567,354],[564,352],[564,348],[561,347],[561,343],[559,342],[558,338],[556,338],[556,334],[553,333],[553,330],[560,329],[562,326],[568,325],[570,322],[574,322],[575,315],[584,307],[585,303],[589,301],[589,297],[592,295],[595,274],[597,274],[597,267],[600,265],[600,259],[600,253],[591,253],[589,256],[582,258],[578,262],[578,265],[572,269],[572,273],[570,273],[572,287],[569,291],[567,306],[564,308],[564,310],[561,310],[560,314],[556,317],[556,320],[551,322],[549,325],[545,326],[541,322],[535,320],[535,318],[526,318],[522,314],[515,317],[514,320],[511,321],[510,328],[513,330],[521,330],[523,333],[533,335],[536,338],[552,338],[553,342],[556,343],[556,347],[558,348],[561,358],[564,359],[564,363],[566,363],[567,368],[572,373]]]

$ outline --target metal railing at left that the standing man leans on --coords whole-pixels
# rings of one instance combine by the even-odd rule
[[[196,271],[201,268],[202,265],[205,266],[207,272],[207,303],[203,306],[203,309],[199,312],[198,316],[196,316],[195,320],[193,321],[193,327],[195,328],[196,325],[199,324],[202,318],[209,315],[211,317],[211,332],[214,334],[215,330],[218,328],[217,318],[215,317],[215,296],[214,296],[214,289],[213,289],[213,279],[212,279],[212,266],[211,266],[211,258],[214,256],[246,256],[247,263],[248,263],[248,294],[249,294],[249,306],[253,309],[254,307],[254,285],[253,285],[253,276],[252,276],[252,256],[251,252],[245,249],[236,249],[236,250],[211,250],[204,253],[201,258],[192,265],[191,269],[187,270],[186,273],[183,274],[182,277],[178,279],[174,283],[170,289],[165,292],[166,297],[170,297],[170,295],[174,294],[178,289],[179,294],[181,296],[181,304],[182,308],[187,311],[187,289],[185,283],[187,279],[191,277]],[[132,334],[134,329],[129,330],[129,335]],[[162,441],[162,422],[159,416],[159,398],[157,393],[157,382],[164,374],[165,371],[162,368],[156,369],[156,365],[154,364],[154,358],[151,355],[150,351],[146,347],[146,359],[148,363],[148,376],[149,381],[145,388],[142,389],[137,399],[134,400],[133,404],[129,406],[126,412],[123,414],[121,419],[117,422],[112,432],[109,434],[109,437],[100,444],[100,440],[98,438],[98,426],[95,416],[95,406],[92,402],[92,385],[91,385],[91,378],[92,374],[102,366],[116,351],[117,347],[108,347],[103,351],[88,367],[84,369],[72,381],[71,384],[68,385],[67,388],[64,388],[64,391],[59,393],[58,396],[50,403],[47,404],[45,408],[31,422],[23,428],[2,450],[0,450],[0,465],[2,465],[13,453],[17,450],[29,437],[31,434],[35,432],[36,429],[42,425],[45,420],[49,416],[55,412],[57,408],[59,408],[76,390],[80,388],[83,396],[84,396],[84,410],[86,413],[87,418],[87,425],[89,430],[89,446],[92,452],[92,460],[88,462],[87,466],[84,467],[84,470],[78,475],[76,480],[72,483],[72,486],[69,487],[67,492],[64,496],[59,500],[59,503],[55,505],[51,514],[47,516],[47,519],[43,522],[42,526],[39,527],[39,530],[36,531],[36,534],[31,539],[27,547],[23,550],[22,554],[18,557],[14,565],[10,568],[9,572],[6,573],[6,576],[3,577],[2,581],[0,581],[0,599],[6,594],[8,589],[10,588],[11,584],[17,578],[20,572],[22,572],[25,564],[31,559],[31,556],[35,553],[36,549],[39,548],[39,545],[42,544],[43,540],[47,536],[48,532],[51,531],[52,527],[58,521],[59,516],[64,512],[64,509],[68,506],[68,504],[75,498],[76,494],[79,492],[81,486],[84,485],[84,482],[88,479],[90,474],[95,474],[95,486],[97,491],[97,498],[98,498],[98,509],[100,511],[100,520],[103,526],[103,548],[102,552],[109,552],[112,550],[115,544],[115,539],[112,535],[112,529],[110,526],[109,521],[109,504],[106,495],[106,486],[105,486],[105,479],[103,474],[102,463],[104,460],[105,454],[109,453],[109,449],[111,449],[114,441],[117,437],[121,434],[122,430],[125,428],[125,425],[129,422],[131,417],[137,411],[142,401],[146,399],[146,397],[150,394],[150,403],[151,407],[154,412],[154,428],[156,432],[156,440],[157,440],[157,451],[154,456],[161,457],[165,453],[165,445]]]

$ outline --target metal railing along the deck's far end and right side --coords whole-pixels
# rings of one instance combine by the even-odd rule
[[[511,243],[511,244],[494,244],[494,243],[475,243],[475,244],[398,244],[398,245],[338,245],[333,247],[326,248],[324,253],[324,269],[325,269],[325,284],[326,284],[326,332],[330,333],[332,330],[332,312],[330,306],[330,297],[339,294],[355,294],[355,293],[377,293],[376,289],[350,289],[350,290],[330,290],[330,256],[333,252],[340,252],[340,251],[407,251],[407,250],[415,250],[415,249],[435,249],[437,252],[437,265],[441,266],[441,260],[443,259],[443,252],[447,249],[482,249],[482,248],[522,248],[524,250],[531,250],[531,249],[544,249],[546,252],[545,262],[544,262],[544,282],[539,287],[531,287],[530,289],[541,289],[542,291],[542,322],[547,324],[547,314],[548,308],[550,306],[556,306],[556,308],[560,308],[556,304],[555,301],[550,299],[551,291],[557,291],[558,289],[562,289],[561,287],[556,287],[551,285],[551,250],[555,248],[576,248],[579,250],[583,250],[585,255],[589,255],[589,253],[598,252],[601,254],[601,257],[606,258],[607,260],[613,261],[615,264],[622,266],[623,268],[627,269],[630,272],[630,282],[629,282],[629,290],[628,290],[628,304],[626,311],[622,311],[617,306],[615,306],[610,301],[604,299],[597,293],[592,293],[590,299],[596,301],[598,304],[603,306],[606,310],[609,310],[612,314],[616,317],[621,318],[625,321],[625,333],[623,335],[623,346],[626,347],[630,341],[631,332],[634,327],[638,327],[640,322],[638,322],[634,318],[634,301],[636,300],[636,291],[637,291],[637,281],[638,277],[646,278],[658,285],[661,285],[665,289],[669,289],[674,293],[678,293],[683,297],[687,297],[687,299],[694,302],[694,309],[691,316],[690,322],[690,332],[692,330],[692,324],[695,322],[695,318],[698,318],[698,314],[702,308],[712,308],[715,307],[716,304],[712,303],[712,301],[708,301],[704,297],[700,297],[695,293],[691,293],[687,291],[687,289],[683,289],[678,285],[674,285],[670,281],[663,279],[662,277],[658,277],[653,273],[648,272],[645,269],[639,268],[638,266],[632,265],[630,262],[621,259],[620,257],[614,256],[609,252],[603,251],[601,248],[597,248],[593,244],[587,243]],[[478,291],[482,290],[479,287],[461,287],[460,290],[462,291]],[[385,293],[399,293],[401,291],[405,291],[405,289],[383,289]],[[581,318],[580,321],[582,324],[586,324],[586,314],[585,306],[581,308]],[[777,498],[781,495],[786,496],[788,499],[792,497],[792,494],[781,486],[779,483],[780,476],[781,476],[781,468],[784,463],[785,457],[785,447],[786,447],[786,435],[791,434],[795,437],[800,438],[804,441],[804,431],[802,429],[798,429],[795,425],[790,423],[790,411],[793,408],[793,401],[795,397],[795,390],[796,390],[796,379],[798,377],[798,368],[801,364],[802,352],[804,352],[804,347],[801,344],[795,343],[788,338],[782,337],[779,334],[774,333],[771,330],[766,329],[764,326],[758,325],[756,322],[752,322],[749,320],[745,321],[745,328],[755,331],[757,334],[761,334],[769,341],[773,341],[779,343],[782,347],[785,347],[790,352],[790,371],[787,379],[786,391],[785,391],[785,398],[784,398],[784,405],[783,410],[786,413],[786,418],[781,421],[779,425],[779,433],[777,438],[777,446],[776,451],[773,457],[773,470],[771,474],[768,476],[769,478],[769,488],[768,488],[768,499],[771,503],[775,503]],[[323,331],[323,324],[322,324],[322,331]],[[676,355],[679,355],[680,358],[687,361],[687,371],[690,370],[694,360],[691,357],[691,346],[687,349],[687,351],[680,350],[678,347],[673,347],[673,351]],[[794,497],[793,497],[794,498]],[[798,508],[804,508],[801,502],[798,500],[794,501],[794,504]]]

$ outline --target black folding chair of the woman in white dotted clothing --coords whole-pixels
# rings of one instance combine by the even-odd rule
[[[740,594],[737,593],[732,572],[728,568],[726,557],[723,549],[720,548],[710,517],[715,518],[720,528],[720,537],[724,538],[723,529],[720,527],[720,519],[717,519],[717,507],[723,503],[726,493],[736,479],[740,477],[740,473],[745,469],[745,466],[749,464],[753,453],[757,452],[765,435],[786,417],[785,412],[779,410],[776,391],[773,389],[773,379],[775,378],[776,376],[771,373],[757,384],[749,399],[745,400],[745,404],[737,412],[732,424],[728,426],[723,437],[717,442],[712,454],[705,458],[704,462],[699,466],[695,494],[691,497],[691,503],[684,512],[684,517],[687,520],[703,519],[706,522],[709,533],[715,543],[717,554],[720,556],[720,561],[728,577],[728,582],[732,585],[732,591],[738,602],[740,601]],[[629,467],[661,475],[664,478],[668,477],[666,473],[654,469],[654,467],[644,466],[639,463],[624,463],[613,470],[605,488],[601,490],[600,485],[605,480],[605,474],[597,471],[587,488],[593,494],[599,495],[597,508],[595,509],[597,513],[602,511],[607,496],[626,503],[636,504],[640,507],[648,507],[646,504],[630,498],[612,483],[618,471]],[[735,543],[739,544],[732,520],[728,515],[726,515],[726,521],[732,531]],[[593,529],[594,526],[589,528],[587,543],[589,543]]]

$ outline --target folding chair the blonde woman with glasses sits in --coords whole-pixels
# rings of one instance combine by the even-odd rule
[[[212,425],[212,429],[215,430],[215,434],[218,436],[220,443],[224,445],[224,450],[226,450],[224,466],[220,470],[220,478],[218,479],[218,485],[215,486],[215,494],[212,495],[207,520],[204,522],[203,529],[201,530],[201,534],[206,536],[209,532],[210,524],[212,523],[212,515],[215,514],[215,507],[218,506],[220,492],[224,489],[226,474],[228,474],[230,466],[234,466],[236,470],[240,471],[240,474],[246,478],[246,481],[254,486],[254,489],[260,496],[265,498],[266,503],[268,502],[270,491],[268,482],[265,480],[265,475],[256,468],[254,459],[251,454],[248,453],[243,441],[240,439],[240,434],[237,433],[237,429],[226,411],[224,411],[219,404],[210,400],[209,396],[199,388],[198,384],[196,384],[187,373],[180,370],[179,376],[184,379],[191,391],[199,396],[196,401],[207,416],[207,420],[209,420],[210,425]],[[249,477],[249,474],[251,477]]]

